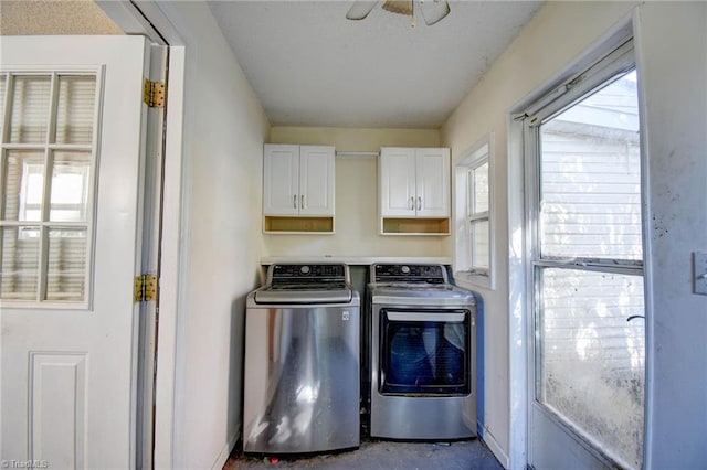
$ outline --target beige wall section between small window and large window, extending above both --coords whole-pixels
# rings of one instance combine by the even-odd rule
[[[476,141],[495,135],[493,157],[496,288],[467,287],[484,299],[484,438],[503,463],[510,446],[508,287],[508,114],[546,86],[614,23],[630,14],[629,2],[548,2],[492,65],[441,130],[454,162]],[[521,186],[514,192],[523,191]]]

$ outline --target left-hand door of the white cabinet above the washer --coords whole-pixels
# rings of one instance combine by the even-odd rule
[[[299,213],[299,146],[265,145],[263,214]]]

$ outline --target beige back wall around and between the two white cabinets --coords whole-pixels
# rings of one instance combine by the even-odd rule
[[[439,147],[436,129],[273,127],[271,143],[329,145],[337,151],[378,152],[381,147]],[[336,158],[334,235],[263,235],[267,256],[450,256],[450,236],[378,234],[376,157]]]

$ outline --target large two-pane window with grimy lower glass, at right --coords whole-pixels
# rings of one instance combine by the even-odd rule
[[[534,399],[641,468],[644,287],[637,76],[629,41],[524,117]]]

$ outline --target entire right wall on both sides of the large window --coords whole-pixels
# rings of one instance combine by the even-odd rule
[[[525,449],[518,449],[523,444],[516,440],[523,432],[514,431],[511,439],[511,410],[517,410],[520,404],[511,402],[509,384],[513,380],[523,386],[527,383],[510,374],[514,368],[523,371],[525,365],[518,363],[517,356],[509,356],[509,352],[523,348],[515,340],[520,338],[518,331],[523,330],[524,319],[517,316],[518,308],[510,311],[509,307],[523,305],[518,292],[509,291],[509,276],[518,273],[509,271],[506,261],[514,263],[517,258],[517,253],[511,253],[509,247],[520,238],[509,239],[508,218],[509,214],[521,214],[523,180],[509,173],[508,113],[552,82],[614,24],[625,21],[633,6],[631,2],[549,2],[493,64],[442,129],[442,145],[452,147],[454,159],[486,133],[493,131],[496,137],[493,178],[498,234],[497,288],[493,291],[474,288],[485,302],[486,439],[502,462],[514,468],[525,467],[525,461],[508,457],[523,458]],[[707,332],[707,297],[689,291],[690,252],[707,248],[705,9],[703,2],[647,2],[639,7],[642,21],[636,49],[647,110],[644,129],[652,222],[645,231],[653,235],[646,263],[652,268],[647,282],[654,302],[648,328],[653,342],[647,351],[654,361],[647,387],[651,400],[647,419],[652,426],[647,462],[654,468],[704,467],[707,459],[704,449],[707,343],[700,338]],[[511,211],[509,194],[515,204]],[[521,225],[511,227],[515,228]],[[513,334],[513,344],[509,334]],[[518,426],[524,425],[521,419]]]

